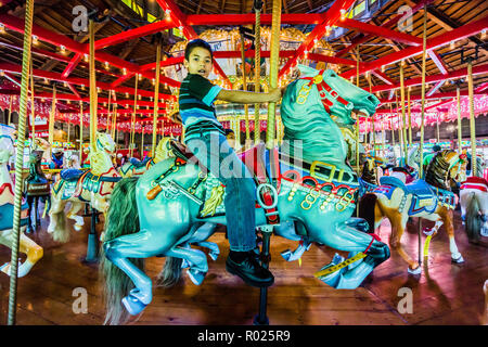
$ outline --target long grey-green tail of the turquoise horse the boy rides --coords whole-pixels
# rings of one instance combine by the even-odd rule
[[[105,222],[103,245],[107,242],[139,231],[139,213],[136,202],[136,184],[138,178],[126,178],[115,184],[111,196],[111,205]],[[121,299],[133,288],[133,283],[116,265],[114,265],[101,247],[100,278],[104,284],[103,299],[106,307],[104,324],[120,324],[129,320],[130,314],[121,306]],[[144,259],[129,259],[136,267],[144,271]]]

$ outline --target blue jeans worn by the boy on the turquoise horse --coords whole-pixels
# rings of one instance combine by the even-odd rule
[[[189,150],[226,185],[227,232],[231,250],[256,247],[256,185],[223,134],[208,131],[185,141]]]

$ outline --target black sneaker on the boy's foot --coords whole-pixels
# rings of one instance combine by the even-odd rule
[[[254,252],[248,252],[241,262],[227,257],[226,269],[228,272],[239,275],[245,283],[257,287],[267,287],[274,283],[273,274],[261,267]]]

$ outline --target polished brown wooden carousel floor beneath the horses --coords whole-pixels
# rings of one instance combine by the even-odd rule
[[[428,266],[422,274],[412,277],[400,257],[376,268],[363,285],[355,291],[333,290],[313,273],[330,262],[334,249],[312,245],[298,261],[286,262],[280,252],[296,244],[272,236],[270,269],[275,283],[269,290],[268,317],[270,324],[473,324],[478,325],[484,310],[483,284],[488,279],[488,248],[467,243],[459,213],[455,213],[459,250],[465,264],[452,265],[449,243],[444,228],[431,243]],[[102,287],[98,280],[98,265],[84,265],[90,219],[86,218],[81,232],[73,231],[67,244],[59,244],[46,232],[47,220],[33,239],[44,248],[44,257],[30,273],[18,280],[17,324],[36,325],[98,325],[103,323]],[[428,223],[428,222],[427,222]],[[69,222],[72,226],[73,223]],[[403,236],[406,249],[416,257],[415,226]],[[99,232],[102,224],[98,226]],[[382,240],[389,239],[389,223],[380,230]],[[217,261],[209,261],[209,271],[201,286],[184,277],[177,287],[155,287],[152,304],[138,320],[129,324],[252,324],[257,313],[259,290],[245,285],[239,278],[226,272],[224,259],[229,252],[222,232],[210,241],[221,249]],[[10,260],[10,249],[1,246],[0,265]],[[155,279],[163,268],[164,258],[146,261],[147,274]],[[76,297],[73,291],[84,287],[88,292],[88,313],[73,312]],[[412,313],[397,309],[403,296],[401,287],[412,290]],[[9,300],[9,278],[0,273],[0,324],[5,324]]]

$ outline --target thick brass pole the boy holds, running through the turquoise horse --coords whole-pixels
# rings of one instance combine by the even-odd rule
[[[278,63],[280,54],[280,26],[281,26],[281,0],[273,0],[272,18],[271,18],[271,56],[270,56],[270,87],[278,87]],[[268,123],[266,131],[266,147],[272,150],[274,146],[274,127],[275,127],[275,108],[274,102],[268,103]],[[254,130],[259,129],[259,123],[255,124]],[[271,151],[270,151],[271,153]],[[271,160],[271,180],[274,185],[277,168],[274,167],[274,160]],[[262,234],[262,248],[261,248],[261,262],[265,269],[269,267],[269,244],[270,237],[273,232],[273,226],[261,227]],[[255,325],[268,325],[269,319],[267,317],[268,305],[268,288],[264,287],[259,290],[259,313],[254,318]]]

